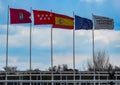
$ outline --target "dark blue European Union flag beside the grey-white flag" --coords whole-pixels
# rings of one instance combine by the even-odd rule
[[[75,15],[75,30],[80,29],[89,30],[92,28],[93,28],[92,20]]]

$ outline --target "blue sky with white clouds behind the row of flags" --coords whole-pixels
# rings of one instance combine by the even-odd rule
[[[120,66],[120,0],[0,0],[0,70],[5,66],[7,7],[53,12],[92,19],[95,15],[114,19],[114,30],[95,30],[95,51],[105,50],[114,65]],[[32,16],[33,18],[33,16]],[[32,68],[50,67],[50,28],[32,24]],[[86,69],[92,59],[92,32],[75,33],[76,68]],[[54,65],[68,64],[72,68],[72,31],[53,29]],[[9,25],[9,66],[29,69],[29,24]]]

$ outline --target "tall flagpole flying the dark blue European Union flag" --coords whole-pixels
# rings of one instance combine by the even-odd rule
[[[73,17],[75,16],[73,12]],[[75,20],[74,20],[75,23]],[[75,26],[73,28],[73,70],[74,70],[74,80],[75,80]],[[74,82],[75,85],[75,82]]]

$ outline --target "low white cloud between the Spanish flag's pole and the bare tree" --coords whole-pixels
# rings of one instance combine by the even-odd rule
[[[54,65],[62,65],[62,64],[67,64],[69,68],[73,68],[73,54],[63,54],[63,55],[54,55]],[[77,69],[81,68],[83,69],[83,63],[86,65],[85,62],[90,58],[90,55],[80,55],[76,54],[75,55],[75,67]]]

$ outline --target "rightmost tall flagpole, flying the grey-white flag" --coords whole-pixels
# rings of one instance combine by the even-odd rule
[[[95,49],[94,49],[94,19],[93,19],[93,14],[92,14],[92,20],[93,20],[93,29],[92,29],[92,42],[93,42],[93,47],[92,47],[92,49],[93,49],[93,70],[94,70],[94,80],[95,80],[95,55],[94,55],[94,53],[95,53]],[[95,85],[95,83],[94,83],[94,85]]]

